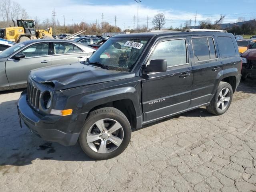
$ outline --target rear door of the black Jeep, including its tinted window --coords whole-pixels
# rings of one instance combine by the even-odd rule
[[[191,103],[189,108],[210,102],[222,63],[216,51],[213,36],[190,36],[192,68],[194,73]]]

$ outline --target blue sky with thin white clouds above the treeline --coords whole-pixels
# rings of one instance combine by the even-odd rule
[[[114,17],[117,17],[116,25],[121,29],[133,28],[133,17],[136,16],[137,25],[137,3],[134,0],[44,0],[40,9],[36,8],[27,0],[18,0],[29,15],[38,16],[44,19],[51,15],[53,8],[57,12],[57,19],[63,23],[65,15],[66,23],[81,22],[82,18],[88,23],[103,21],[114,25]],[[218,19],[220,14],[226,14],[224,23],[236,22],[238,17],[244,17],[246,20],[256,18],[254,9],[250,9],[250,4],[255,4],[256,0],[142,0],[139,6],[139,24],[147,24],[152,27],[152,18],[157,13],[164,13],[166,24],[164,27],[179,27],[186,20],[192,20],[194,25],[195,13],[197,11],[197,22]]]

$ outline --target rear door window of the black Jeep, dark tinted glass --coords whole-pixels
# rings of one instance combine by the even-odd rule
[[[216,58],[216,50],[213,38],[192,38],[195,62]]]

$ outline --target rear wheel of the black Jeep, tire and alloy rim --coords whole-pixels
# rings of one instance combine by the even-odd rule
[[[232,98],[232,86],[227,82],[220,82],[217,91],[210,102],[210,105],[206,106],[206,109],[211,114],[222,115],[230,107]]]

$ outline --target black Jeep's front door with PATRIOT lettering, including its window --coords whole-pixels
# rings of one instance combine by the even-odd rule
[[[147,64],[167,60],[167,71],[142,75],[143,121],[186,112],[190,104],[193,73],[187,39],[160,40]]]

